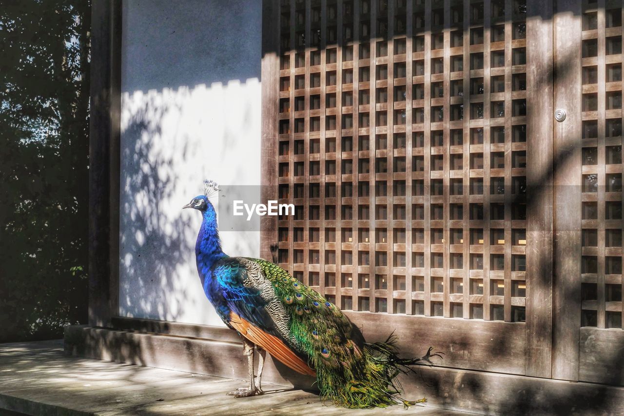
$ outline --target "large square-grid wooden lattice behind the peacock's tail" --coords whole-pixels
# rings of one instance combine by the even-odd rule
[[[524,321],[525,2],[280,16],[280,265],[342,309]]]

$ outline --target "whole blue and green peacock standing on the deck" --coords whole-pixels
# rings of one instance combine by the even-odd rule
[[[396,337],[369,344],[361,331],[318,292],[294,279],[273,262],[230,257],[221,247],[217,213],[209,198],[218,192],[213,181],[204,181],[203,195],[183,208],[203,215],[195,255],[203,290],[223,322],[243,339],[249,367],[249,387],[228,394],[249,397],[262,394],[261,376],[266,352],[300,374],[316,377],[323,400],[351,409],[409,407],[426,399],[400,397],[399,374],[411,365],[431,365],[432,354],[419,359],[397,355]],[[254,354],[259,354],[258,378]]]

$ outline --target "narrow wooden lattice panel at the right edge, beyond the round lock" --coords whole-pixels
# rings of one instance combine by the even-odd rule
[[[622,2],[583,2],[582,326],[622,328]]]

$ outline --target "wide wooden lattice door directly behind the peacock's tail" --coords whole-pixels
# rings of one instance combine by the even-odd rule
[[[265,253],[369,340],[550,377],[552,4],[268,3],[263,181],[296,209]]]

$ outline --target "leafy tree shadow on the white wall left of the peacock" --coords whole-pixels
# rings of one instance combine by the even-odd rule
[[[179,264],[193,252],[190,220],[171,217],[167,204],[180,181],[170,149],[158,140],[160,121],[175,102],[155,96],[124,120],[120,184],[120,313],[165,320],[179,317],[189,299],[180,284]],[[178,107],[179,110],[179,107]],[[177,140],[176,140],[177,139]],[[172,137],[172,144],[180,142]],[[188,144],[178,149],[187,156]],[[182,204],[180,202],[180,204]]]

